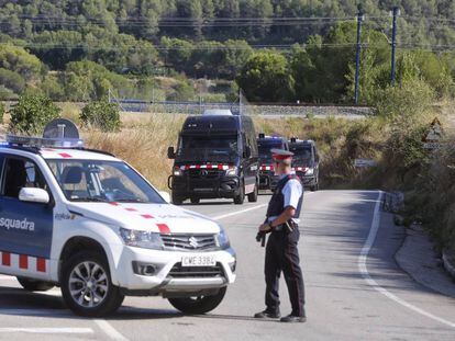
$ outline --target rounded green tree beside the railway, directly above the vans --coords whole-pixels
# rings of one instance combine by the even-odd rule
[[[253,54],[236,78],[248,101],[286,102],[293,98],[295,80],[281,54],[266,50]]]

